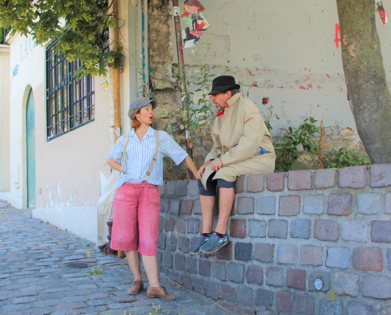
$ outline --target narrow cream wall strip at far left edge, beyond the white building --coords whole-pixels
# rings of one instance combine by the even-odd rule
[[[0,45],[0,192],[10,190],[10,47]]]

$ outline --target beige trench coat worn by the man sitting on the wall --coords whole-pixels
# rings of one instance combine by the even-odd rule
[[[213,148],[205,157],[205,163],[221,159],[224,165],[213,179],[235,181],[239,175],[273,173],[273,142],[257,106],[240,93],[227,103],[230,107],[225,109],[224,115],[216,117],[212,129]],[[265,148],[266,153],[258,154],[258,147]],[[213,173],[212,164],[206,167],[202,177],[204,187]]]

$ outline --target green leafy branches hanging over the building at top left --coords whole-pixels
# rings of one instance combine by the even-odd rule
[[[57,48],[82,61],[80,72],[106,73],[106,63],[121,67],[121,50],[104,48],[103,29],[118,24],[110,12],[116,0],[0,0],[0,27],[11,27],[37,44],[60,38]]]

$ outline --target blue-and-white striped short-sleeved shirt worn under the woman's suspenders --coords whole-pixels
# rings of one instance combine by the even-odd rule
[[[144,181],[148,167],[152,161],[156,148],[155,131],[149,127],[143,140],[140,141],[132,129],[129,132],[128,145],[126,147],[125,175],[126,181],[140,183]],[[180,164],[187,156],[183,150],[165,131],[159,131],[160,146],[157,160],[148,178],[148,183],[153,185],[163,184],[163,157],[169,156],[176,165]],[[118,138],[116,144],[107,155],[107,159],[114,159],[121,164],[121,155],[124,148],[125,135]],[[117,181],[116,188],[120,188],[125,182],[123,173]]]

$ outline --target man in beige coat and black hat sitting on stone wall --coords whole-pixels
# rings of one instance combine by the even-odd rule
[[[243,98],[233,76],[212,82],[211,101],[218,113],[213,125],[213,148],[198,171],[202,236],[190,254],[214,253],[228,243],[227,223],[239,175],[274,172],[275,153],[270,133],[257,106]],[[219,216],[213,232],[213,210],[219,194]]]

